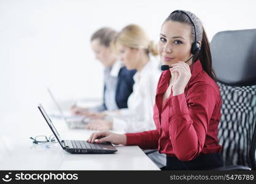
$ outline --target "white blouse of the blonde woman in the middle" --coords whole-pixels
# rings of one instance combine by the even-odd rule
[[[134,74],[133,93],[128,98],[128,108],[118,113],[108,113],[113,118],[113,129],[123,132],[141,132],[155,129],[153,105],[160,77],[157,61],[150,60],[141,71]]]

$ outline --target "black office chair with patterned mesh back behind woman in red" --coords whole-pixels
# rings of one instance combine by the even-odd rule
[[[225,167],[217,170],[255,170],[256,29],[215,34],[211,53],[223,102],[219,143]]]

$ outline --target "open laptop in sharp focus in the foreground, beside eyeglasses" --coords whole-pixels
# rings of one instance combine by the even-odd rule
[[[69,153],[115,153],[117,149],[110,143],[104,142],[101,144],[98,143],[89,143],[85,140],[63,140],[58,134],[55,126],[53,125],[52,121],[48,117],[47,113],[45,112],[44,108],[41,104],[39,104],[38,109],[42,113],[45,121],[47,122],[48,126],[52,130],[54,136],[60,143],[63,150],[68,151]]]

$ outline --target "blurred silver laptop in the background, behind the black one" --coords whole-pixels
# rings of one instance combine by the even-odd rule
[[[56,101],[55,97],[53,96],[52,91],[50,88],[47,88],[48,93],[50,94],[50,97],[53,101],[53,103],[56,105],[58,111],[60,112],[60,117],[66,122],[68,127],[70,129],[83,129],[90,121],[90,118],[84,117],[82,115],[64,115],[63,110],[61,109],[60,105]]]

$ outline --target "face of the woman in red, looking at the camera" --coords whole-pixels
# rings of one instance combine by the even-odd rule
[[[161,26],[158,52],[163,64],[187,61],[192,56],[191,26],[177,21],[166,21]]]

